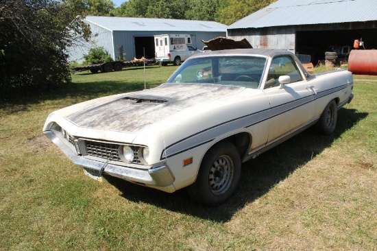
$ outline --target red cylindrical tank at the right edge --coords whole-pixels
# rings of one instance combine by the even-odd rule
[[[348,58],[348,71],[353,74],[377,75],[377,50],[353,49]]]

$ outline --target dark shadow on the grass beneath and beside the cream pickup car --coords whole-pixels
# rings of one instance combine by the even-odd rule
[[[123,198],[127,200],[153,204],[170,211],[215,222],[228,222],[234,213],[239,211],[239,208],[268,193],[275,184],[287,178],[295,169],[308,163],[329,147],[343,132],[350,130],[365,117],[367,113],[343,108],[339,110],[338,125],[333,135],[319,136],[308,129],[258,158],[243,163],[241,181],[236,193],[228,202],[214,208],[195,204],[190,200],[185,189],[175,193],[164,193],[110,176],[106,176],[106,180],[117,187]]]

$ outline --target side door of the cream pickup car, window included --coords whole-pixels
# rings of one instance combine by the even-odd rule
[[[278,78],[288,75],[289,84],[280,86]],[[271,61],[269,73],[264,85],[265,95],[269,98],[269,136],[268,142],[313,121],[315,88],[308,84],[295,60],[289,56],[276,56]]]

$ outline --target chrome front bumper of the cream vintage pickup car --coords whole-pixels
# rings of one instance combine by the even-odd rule
[[[62,152],[76,165],[95,169],[97,171],[101,171],[101,168],[104,167],[105,163],[78,156],[76,152],[73,152],[71,148],[61,139],[59,139],[59,137],[53,132],[45,131],[43,134],[45,134],[50,141],[56,144],[60,150],[62,150]],[[171,174],[169,168],[166,166],[155,167],[153,169],[135,169],[112,165],[109,163],[106,165],[104,173],[147,187],[153,187],[161,191],[166,191],[169,193],[173,193],[173,191],[175,191],[175,187],[173,186],[175,178],[173,174]]]

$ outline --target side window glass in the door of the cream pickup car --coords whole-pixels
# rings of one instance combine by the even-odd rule
[[[267,75],[267,82],[265,88],[279,86],[278,79],[282,75],[289,75],[291,83],[302,81],[302,75],[295,64],[295,60],[290,56],[278,56],[273,58],[269,73]]]

